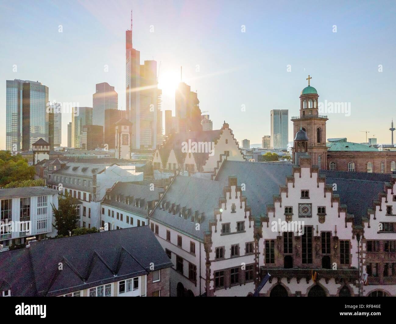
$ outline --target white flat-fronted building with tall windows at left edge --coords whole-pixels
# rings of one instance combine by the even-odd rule
[[[47,187],[0,189],[0,251],[25,242],[55,236],[52,204],[57,208],[59,191]]]

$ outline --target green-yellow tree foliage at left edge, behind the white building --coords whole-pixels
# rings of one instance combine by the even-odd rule
[[[0,151],[0,187],[22,179],[33,180],[34,173],[34,166],[29,166],[20,154],[11,155],[10,151]]]

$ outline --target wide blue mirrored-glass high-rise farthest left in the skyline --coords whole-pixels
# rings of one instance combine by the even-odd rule
[[[48,87],[29,80],[6,80],[6,149],[29,151],[48,141]]]

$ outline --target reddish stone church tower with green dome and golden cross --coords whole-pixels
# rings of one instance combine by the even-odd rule
[[[326,146],[326,121],[327,116],[319,115],[318,111],[318,91],[310,86],[308,75],[308,86],[301,91],[300,95],[300,116],[291,118],[293,122],[293,133],[295,139],[293,143],[293,163],[299,164],[298,148],[302,148],[302,142],[299,140],[303,137],[300,129],[305,132],[306,153],[312,158],[312,164],[319,166],[319,169],[327,170],[327,146]],[[299,136],[297,136],[299,135]],[[299,146],[300,145],[300,146]],[[302,151],[301,151],[302,153]]]

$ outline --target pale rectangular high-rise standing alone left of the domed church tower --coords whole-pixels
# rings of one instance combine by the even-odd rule
[[[271,147],[287,149],[289,141],[289,111],[287,109],[271,110]]]

